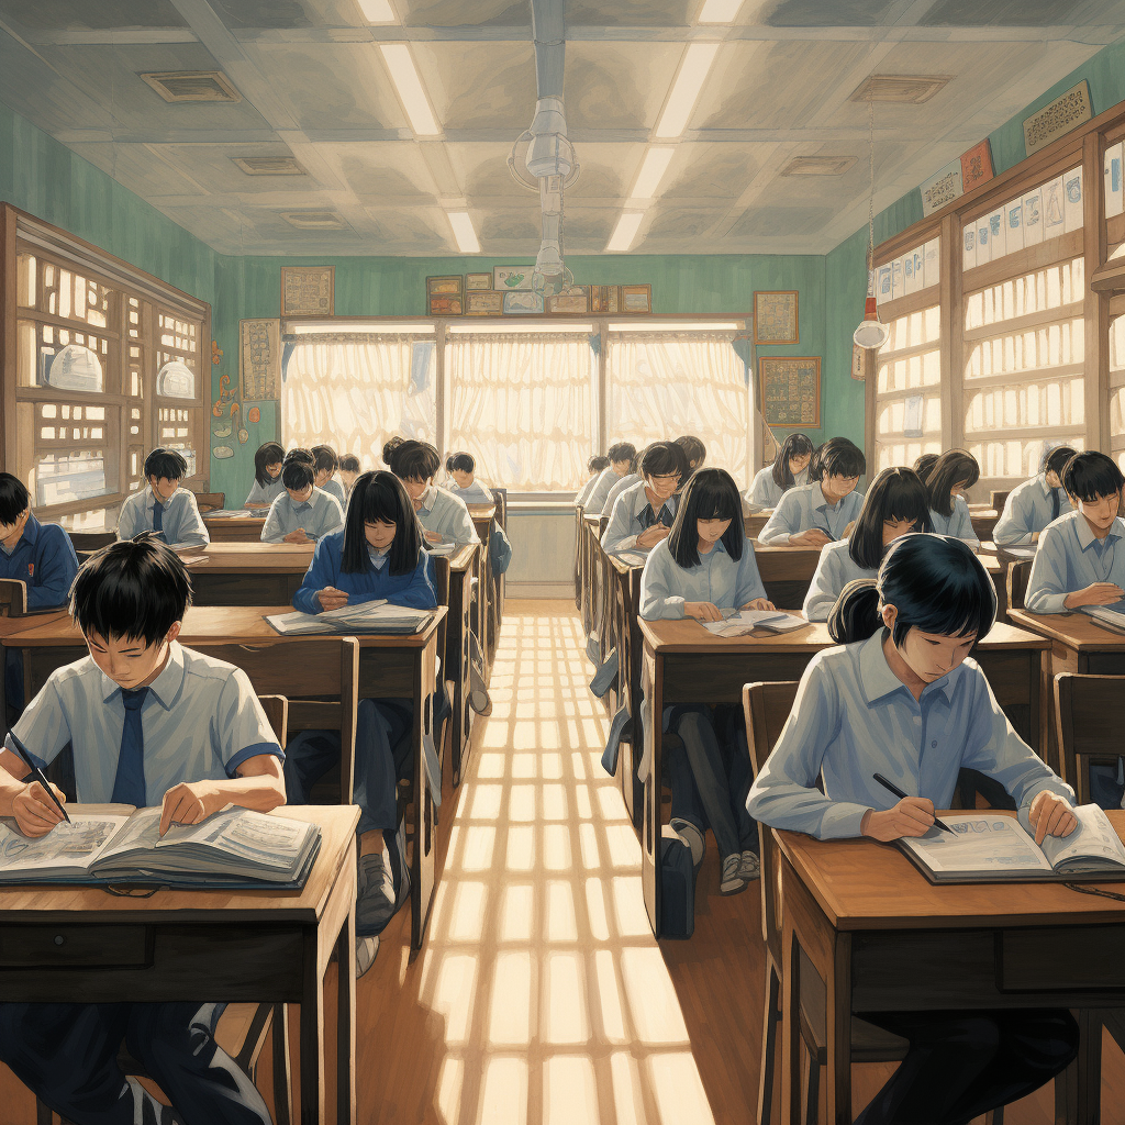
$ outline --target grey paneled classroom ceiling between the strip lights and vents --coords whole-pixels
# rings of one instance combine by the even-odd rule
[[[222,253],[533,253],[539,199],[506,166],[536,102],[528,0],[0,0],[0,100]],[[582,174],[566,246],[826,253],[866,223],[871,74],[945,75],[875,106],[876,207],[918,186],[1125,35],[1122,0],[566,0],[566,106]],[[656,198],[630,198],[687,45],[718,42]],[[380,44],[407,43],[441,134],[420,138]],[[168,104],[137,75],[222,71],[242,100]],[[1105,108],[1105,107],[1097,107]],[[233,161],[294,156],[303,176]],[[837,176],[782,176],[847,156]],[[331,210],[342,230],[285,212]]]

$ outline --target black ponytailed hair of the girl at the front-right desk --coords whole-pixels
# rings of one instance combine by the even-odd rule
[[[952,536],[903,536],[891,543],[878,578],[857,578],[840,592],[828,618],[838,645],[866,640],[883,626],[880,608],[899,612],[892,640],[901,648],[911,629],[940,637],[976,634],[996,622],[996,587],[969,544]]]

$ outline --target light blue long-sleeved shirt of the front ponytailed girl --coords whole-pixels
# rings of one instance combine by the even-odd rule
[[[975,660],[927,684],[915,700],[886,664],[880,629],[809,663],[746,808],[763,824],[819,839],[860,836],[868,809],[898,802],[874,774],[947,809],[962,767],[1004,785],[1025,827],[1042,790],[1074,801],[1073,790],[1012,729]]]

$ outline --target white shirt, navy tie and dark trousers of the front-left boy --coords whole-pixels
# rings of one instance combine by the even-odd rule
[[[88,803],[158,806],[181,782],[233,777],[260,754],[285,757],[246,674],[176,641],[146,688],[123,691],[89,656],[56,669],[16,734],[40,765],[71,744]],[[117,1065],[124,1041],[186,1125],[266,1125],[261,1096],[215,1043],[223,1008],[2,1004],[0,1061],[78,1125],[133,1125],[154,1119],[153,1105]]]

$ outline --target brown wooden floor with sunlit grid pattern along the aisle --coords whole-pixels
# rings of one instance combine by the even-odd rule
[[[425,946],[411,956],[403,910],[357,986],[360,1125],[754,1118],[757,884],[720,897],[709,839],[695,936],[655,940],[640,849],[600,764],[606,721],[586,686],[584,646],[573,603],[507,602],[494,711],[475,728],[460,789],[447,785]],[[330,979],[330,1027],[334,987]],[[1104,1065],[1101,1119],[1125,1122],[1125,1062],[1112,1042]],[[890,1069],[855,1068],[856,1112]],[[330,1065],[330,1083],[332,1074]],[[271,1101],[268,1061],[258,1081]],[[2,1068],[0,1105],[3,1125],[35,1120],[33,1099]],[[775,1105],[775,1125],[778,1116]],[[1005,1120],[1052,1125],[1050,1088]]]

